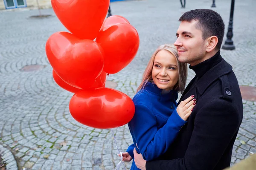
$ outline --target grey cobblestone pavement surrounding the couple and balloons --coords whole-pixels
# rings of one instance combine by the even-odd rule
[[[188,1],[180,8],[178,0],[133,0],[111,3],[113,14],[126,17],[140,34],[140,49],[135,59],[108,80],[117,90],[133,96],[153,51],[163,43],[175,42],[178,18],[195,8],[210,8],[212,0]],[[216,1],[225,23],[230,0]],[[234,51],[221,50],[233,65],[240,85],[256,87],[255,0],[236,0]],[[66,31],[52,9],[45,19],[31,19],[37,10],[0,11],[0,153],[10,150],[18,169],[33,170],[113,170],[119,162],[110,130],[94,129],[76,122],[69,113],[72,96],[55,84],[45,54],[48,37]],[[224,38],[226,40],[226,37]],[[26,65],[42,65],[39,71],[21,71]],[[189,71],[188,82],[194,73]],[[232,163],[256,153],[256,102],[244,102],[244,119],[233,149]],[[113,129],[118,147],[131,144],[128,126]],[[3,152],[4,153],[4,152]],[[11,159],[12,156],[10,156]],[[8,158],[7,158],[8,159]],[[13,162],[13,163],[12,163]],[[17,169],[11,161],[9,169]],[[126,164],[129,169],[131,163]]]

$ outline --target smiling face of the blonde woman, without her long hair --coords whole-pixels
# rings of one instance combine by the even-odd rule
[[[161,50],[154,59],[152,69],[154,83],[160,89],[172,90],[178,81],[176,57],[169,51]]]

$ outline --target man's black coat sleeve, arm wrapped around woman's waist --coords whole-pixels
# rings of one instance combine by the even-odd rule
[[[227,101],[205,104],[195,116],[195,125],[185,156],[146,162],[146,170],[213,170],[239,129],[240,118]]]

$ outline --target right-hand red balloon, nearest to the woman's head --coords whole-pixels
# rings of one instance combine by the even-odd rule
[[[103,71],[115,74],[134,59],[139,49],[140,38],[133,26],[118,23],[99,31],[96,42],[104,51]]]

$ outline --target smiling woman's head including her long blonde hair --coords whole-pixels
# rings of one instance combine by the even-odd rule
[[[158,64],[157,64],[158,63]],[[174,73],[176,73],[176,79],[174,78]],[[153,76],[154,72],[154,76]],[[158,75],[160,72],[160,75]],[[169,74],[167,74],[167,72]],[[172,73],[172,74],[171,74]],[[173,84],[169,84],[167,86],[158,86],[158,80],[155,76],[158,75],[158,79],[162,78],[162,82],[166,79],[163,77],[169,77],[167,80],[171,80]],[[166,76],[167,75],[167,76]],[[171,79],[171,77],[172,79]],[[187,65],[185,63],[178,61],[178,53],[177,49],[174,45],[161,45],[152,55],[151,59],[148,62],[148,65],[143,74],[143,79],[139,87],[137,88],[137,92],[141,89],[145,88],[146,82],[154,82],[160,89],[173,89],[175,91],[182,92],[185,89],[186,84],[186,76],[187,76]],[[160,84],[159,84],[160,85]],[[169,87],[173,85],[172,87]]]

